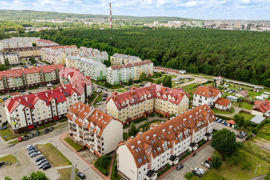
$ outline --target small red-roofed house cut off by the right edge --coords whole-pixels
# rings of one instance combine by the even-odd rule
[[[267,99],[264,101],[255,101],[251,114],[268,118],[270,116],[270,102]]]

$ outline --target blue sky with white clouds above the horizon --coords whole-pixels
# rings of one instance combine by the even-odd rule
[[[194,19],[269,19],[270,0],[1,0],[0,9],[78,14],[177,16]]]

